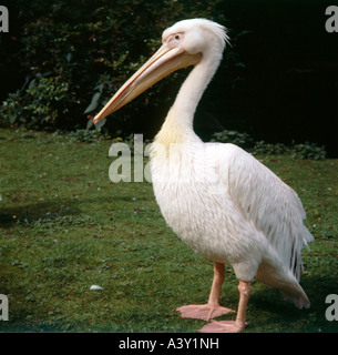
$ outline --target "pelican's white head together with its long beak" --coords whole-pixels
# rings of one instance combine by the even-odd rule
[[[176,22],[162,36],[162,47],[130,78],[94,118],[98,123],[178,69],[196,65],[204,55],[218,53],[228,42],[225,28],[205,19]]]

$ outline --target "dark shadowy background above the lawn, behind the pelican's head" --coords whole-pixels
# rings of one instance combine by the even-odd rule
[[[232,129],[270,143],[309,141],[338,156],[338,32],[325,29],[326,8],[335,1],[0,2],[10,12],[10,32],[0,33],[0,101],[16,93],[11,111],[0,109],[2,125],[85,128],[88,115],[160,45],[163,29],[207,17],[228,28],[232,47],[199,103],[196,132],[205,140]],[[187,72],[150,89],[104,129],[153,138]],[[51,83],[62,82],[64,95],[49,98]],[[84,114],[98,91],[95,109]],[[57,113],[47,119],[30,102]]]

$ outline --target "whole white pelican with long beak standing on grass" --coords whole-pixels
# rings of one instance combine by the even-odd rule
[[[209,297],[184,305],[181,317],[205,320],[201,332],[240,332],[254,277],[280,291],[298,307],[310,303],[299,285],[301,250],[313,241],[296,192],[254,156],[234,144],[204,143],[193,130],[194,113],[222,60],[226,29],[190,19],[163,32],[162,47],[115,93],[94,123],[121,109],[152,84],[193,65],[156,134],[151,173],[166,223],[194,252],[214,262]],[[238,278],[235,321],[214,318],[234,312],[219,304],[225,264]]]

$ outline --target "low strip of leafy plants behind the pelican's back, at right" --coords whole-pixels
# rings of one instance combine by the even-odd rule
[[[248,133],[237,131],[216,132],[213,134],[212,142],[233,143],[255,155],[291,155],[296,159],[324,160],[326,150],[316,143],[301,143],[286,145],[283,143],[266,143],[264,141],[255,141]]]

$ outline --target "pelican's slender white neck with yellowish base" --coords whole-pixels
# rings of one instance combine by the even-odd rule
[[[193,121],[198,102],[215,74],[222,55],[204,54],[201,62],[191,71],[171,108],[165,122],[155,138],[164,145],[201,141],[193,130]]]

